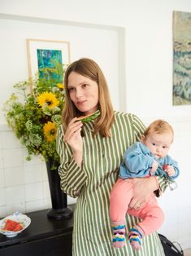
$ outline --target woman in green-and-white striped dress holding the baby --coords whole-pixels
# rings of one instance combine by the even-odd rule
[[[138,252],[132,249],[128,240],[121,249],[111,245],[111,188],[118,177],[126,148],[141,138],[145,126],[135,115],[113,110],[106,79],[93,60],[80,59],[72,63],[65,73],[64,85],[66,101],[63,126],[59,127],[57,135],[57,150],[61,188],[68,195],[78,197],[72,254],[164,255],[157,233],[145,236]],[[96,111],[98,117],[89,122],[77,119]],[[144,205],[159,187],[166,188],[163,179],[137,179],[130,207]],[[129,215],[127,218],[129,230],[138,219]]]

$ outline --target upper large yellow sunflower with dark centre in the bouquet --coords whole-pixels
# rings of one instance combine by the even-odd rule
[[[45,91],[41,95],[38,95],[37,104],[41,107],[46,105],[48,108],[54,108],[59,106],[59,100],[56,99],[56,96],[52,92]]]

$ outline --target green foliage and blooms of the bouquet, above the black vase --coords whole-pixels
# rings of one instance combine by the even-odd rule
[[[59,68],[58,70],[60,72]],[[55,72],[55,68],[49,72]],[[33,88],[32,94],[29,92],[30,86]],[[3,111],[8,126],[28,151],[27,160],[31,160],[33,155],[41,155],[46,161],[50,157],[59,161],[56,152],[55,132],[50,130],[49,136],[49,126],[45,128],[45,125],[51,122],[51,127],[54,126],[55,131],[61,124],[65,99],[63,85],[53,78],[46,79],[36,76],[28,79],[28,81],[18,82],[14,88],[15,93],[11,94],[10,99],[4,103]],[[50,97],[50,99],[53,102],[54,99],[57,100],[56,106],[50,107],[46,95],[43,96],[45,98],[44,104],[40,104],[38,97],[43,93],[51,93],[50,96],[54,97],[52,99]],[[42,99],[44,99],[43,97]]]

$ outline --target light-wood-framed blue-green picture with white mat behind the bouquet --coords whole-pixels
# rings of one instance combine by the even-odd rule
[[[54,41],[43,39],[26,39],[28,55],[28,77],[29,79],[43,76],[41,68],[51,65],[54,68],[55,63],[59,63],[63,68],[67,68],[71,63],[70,42]],[[31,91],[33,88],[31,88]]]

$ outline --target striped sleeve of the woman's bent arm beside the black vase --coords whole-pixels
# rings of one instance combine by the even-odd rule
[[[87,175],[83,170],[82,153],[75,155],[72,147],[64,142],[63,128],[59,127],[57,133],[57,152],[60,158],[59,176],[60,186],[63,192],[69,196],[77,197],[80,195],[81,189],[84,187]],[[72,142],[71,142],[72,143]],[[79,143],[75,143],[74,147],[80,148]]]

